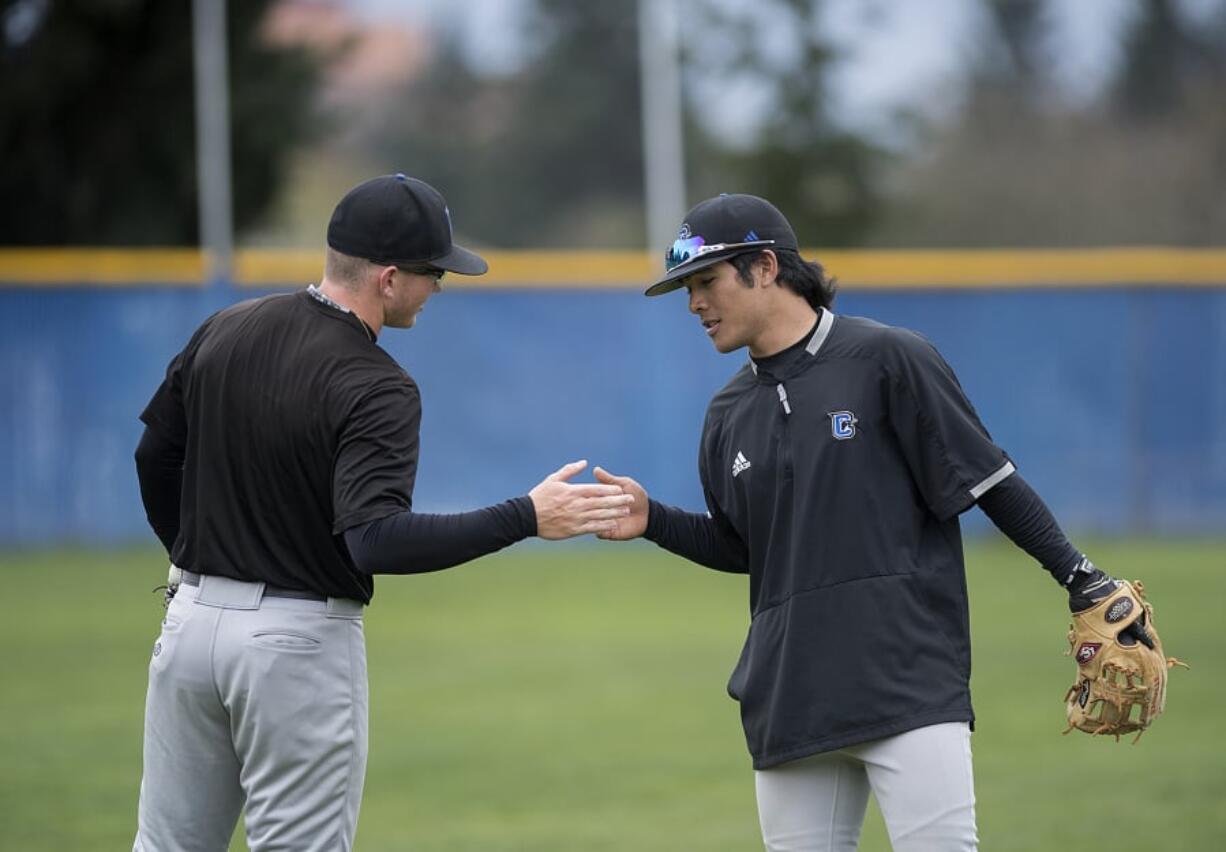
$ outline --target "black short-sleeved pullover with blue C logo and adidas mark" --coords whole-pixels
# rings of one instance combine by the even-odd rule
[[[973,721],[958,515],[1013,465],[927,341],[824,311],[716,394],[699,471],[710,517],[653,503],[649,537],[725,570],[742,554],[728,693],[756,769]]]

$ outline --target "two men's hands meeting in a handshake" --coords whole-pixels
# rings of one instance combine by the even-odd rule
[[[636,538],[647,530],[647,492],[629,477],[595,468],[596,482],[570,482],[587,467],[573,461],[528,492],[537,516],[537,536],[559,539],[596,533],[608,541]]]

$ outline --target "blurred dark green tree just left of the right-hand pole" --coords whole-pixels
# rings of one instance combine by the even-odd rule
[[[443,40],[373,135],[389,169],[444,188],[466,238],[500,246],[642,244],[635,0],[535,0],[532,61],[478,75]]]

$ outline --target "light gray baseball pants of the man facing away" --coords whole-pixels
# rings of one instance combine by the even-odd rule
[[[153,645],[134,852],[349,850],[367,766],[362,604],[181,585]]]

